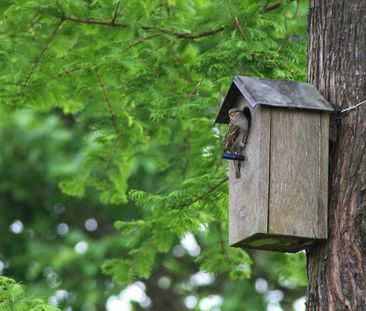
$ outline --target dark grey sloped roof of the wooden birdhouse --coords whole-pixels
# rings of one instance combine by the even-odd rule
[[[242,95],[252,107],[266,105],[282,108],[333,111],[333,107],[309,83],[237,76],[221,105],[215,123],[229,123],[228,111]]]

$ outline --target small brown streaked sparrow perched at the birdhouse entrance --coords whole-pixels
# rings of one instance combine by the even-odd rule
[[[225,135],[224,152],[241,154],[247,144],[250,129],[250,111],[232,108],[228,112],[230,122]],[[240,178],[240,161],[234,160],[235,177]]]

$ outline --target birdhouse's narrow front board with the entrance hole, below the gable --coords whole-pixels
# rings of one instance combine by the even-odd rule
[[[266,234],[268,216],[269,111],[252,108],[241,96],[236,105],[250,109],[251,127],[239,179],[233,161],[229,163],[230,245],[254,234]]]

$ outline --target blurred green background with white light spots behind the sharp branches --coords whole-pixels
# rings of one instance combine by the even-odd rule
[[[124,287],[103,274],[106,259],[129,251],[114,221],[144,215],[133,203],[101,205],[93,191],[82,199],[60,191],[88,143],[72,124],[57,111],[1,110],[0,274],[62,310],[304,310],[303,253],[251,251],[250,278],[233,281],[196,262],[201,247],[216,242],[204,228],[174,239],[147,280]],[[139,163],[131,185],[156,191],[163,183],[158,168]]]

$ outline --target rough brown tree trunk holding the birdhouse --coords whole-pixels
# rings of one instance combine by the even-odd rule
[[[366,100],[366,1],[310,0],[308,80],[335,109]],[[342,114],[328,240],[307,250],[307,310],[366,310],[366,104]]]

